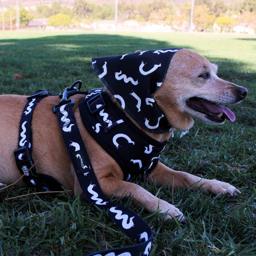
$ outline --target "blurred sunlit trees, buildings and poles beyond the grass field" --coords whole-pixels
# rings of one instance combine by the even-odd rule
[[[256,33],[256,0],[0,0],[0,30]]]

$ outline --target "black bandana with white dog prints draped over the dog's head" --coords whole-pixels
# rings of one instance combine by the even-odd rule
[[[171,127],[153,94],[164,81],[170,60],[179,49],[92,58],[92,66],[130,117],[146,130],[166,133]]]

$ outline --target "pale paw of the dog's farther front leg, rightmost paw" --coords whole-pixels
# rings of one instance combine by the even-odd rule
[[[214,194],[225,194],[227,196],[235,196],[240,194],[241,192],[235,188],[234,186],[230,185],[229,183],[218,181],[218,180],[206,180],[203,187],[207,189],[208,192]]]

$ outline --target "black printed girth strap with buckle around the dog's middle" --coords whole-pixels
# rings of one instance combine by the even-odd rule
[[[59,189],[61,186],[52,177],[36,173],[32,154],[31,119],[34,108],[42,98],[54,95],[52,92],[40,90],[27,97],[27,104],[23,110],[20,121],[18,148],[14,151],[15,161],[21,174],[25,174],[23,181],[28,187],[39,186],[44,191]],[[32,167],[33,166],[33,167]],[[32,168],[31,168],[32,167]],[[31,168],[31,169],[30,169]],[[30,169],[30,171],[28,171]]]

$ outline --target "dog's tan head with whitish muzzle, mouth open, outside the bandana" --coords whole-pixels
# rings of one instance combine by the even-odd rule
[[[234,113],[219,104],[242,101],[247,89],[217,76],[218,66],[202,55],[180,49],[172,57],[166,78],[154,98],[171,126],[186,130],[193,118],[212,124],[235,121]]]

